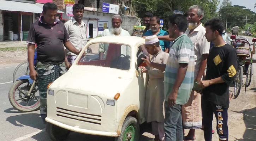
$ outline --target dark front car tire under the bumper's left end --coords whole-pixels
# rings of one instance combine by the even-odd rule
[[[52,123],[47,123],[46,132],[52,141],[63,141],[71,131],[58,127]]]

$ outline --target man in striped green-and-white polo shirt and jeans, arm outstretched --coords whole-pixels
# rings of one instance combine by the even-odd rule
[[[165,71],[165,141],[183,141],[181,106],[189,100],[194,85],[195,53],[185,34],[187,19],[181,14],[169,17],[169,37],[174,42],[166,65],[143,59],[149,67]]]

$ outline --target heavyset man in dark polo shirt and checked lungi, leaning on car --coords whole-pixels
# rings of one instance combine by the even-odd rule
[[[47,2],[43,5],[43,16],[31,25],[28,37],[28,61],[30,78],[38,82],[40,94],[40,114],[45,123],[46,93],[50,82],[66,72],[68,61],[63,45],[72,53],[79,54],[71,43],[67,30],[59,19],[56,19],[57,6]],[[37,44],[36,70],[34,68],[34,49]]]

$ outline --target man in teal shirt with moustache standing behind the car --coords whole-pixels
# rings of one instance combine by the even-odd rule
[[[151,30],[148,30],[144,34],[144,36],[152,36],[152,35],[165,36],[165,35],[168,35],[168,33],[166,31],[160,29],[160,18],[159,17],[153,16],[150,19],[150,29]],[[160,40],[160,47],[166,53],[169,53],[169,45],[170,45],[169,41],[162,41],[162,40]]]

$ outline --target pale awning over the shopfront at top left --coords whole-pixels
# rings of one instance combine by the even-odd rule
[[[17,12],[30,12],[30,13],[42,13],[43,4],[31,4],[25,2],[0,0],[0,10],[17,11]],[[64,13],[58,10],[58,13]]]

